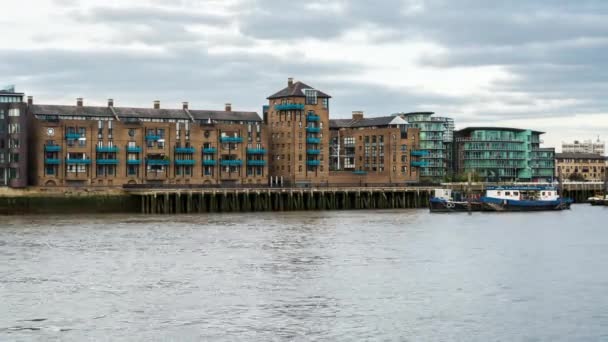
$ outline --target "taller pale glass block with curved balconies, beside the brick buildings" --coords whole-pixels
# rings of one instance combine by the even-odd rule
[[[452,144],[454,141],[454,120],[433,116],[433,112],[394,114],[419,129],[421,181],[440,182],[452,171]]]

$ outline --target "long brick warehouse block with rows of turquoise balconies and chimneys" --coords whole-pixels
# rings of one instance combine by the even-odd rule
[[[255,112],[28,102],[32,185],[268,183]]]

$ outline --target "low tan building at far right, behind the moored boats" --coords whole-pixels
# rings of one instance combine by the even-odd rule
[[[562,179],[603,181],[606,158],[595,153],[557,153],[555,172]]]

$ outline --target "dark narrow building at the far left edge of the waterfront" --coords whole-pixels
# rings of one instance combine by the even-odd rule
[[[23,93],[0,89],[0,187],[27,186],[28,140]]]

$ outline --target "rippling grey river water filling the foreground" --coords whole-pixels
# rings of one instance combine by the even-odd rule
[[[0,220],[2,341],[608,340],[608,207]]]

